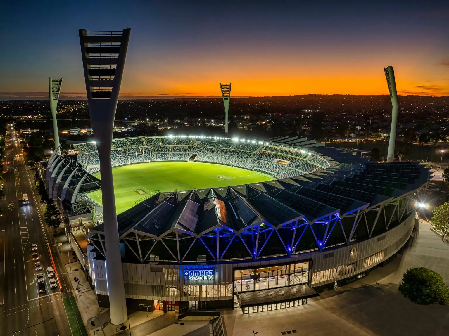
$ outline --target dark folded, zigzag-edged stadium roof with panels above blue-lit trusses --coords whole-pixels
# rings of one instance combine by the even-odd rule
[[[328,172],[329,179],[292,178],[229,188],[158,193],[119,214],[119,234],[153,238],[170,233],[202,236],[217,227],[239,234],[260,224],[279,227],[344,216],[414,191],[429,169],[416,163],[365,163],[356,172]],[[325,170],[326,171],[326,170]],[[101,231],[96,227],[95,231]]]

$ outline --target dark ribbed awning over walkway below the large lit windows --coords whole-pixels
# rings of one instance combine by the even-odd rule
[[[241,292],[237,294],[240,308],[254,307],[256,305],[268,305],[272,303],[282,303],[294,300],[317,297],[320,294],[315,292],[308,284],[292,285],[279,288],[261,289],[259,291]]]

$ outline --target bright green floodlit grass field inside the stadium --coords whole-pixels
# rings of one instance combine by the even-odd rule
[[[117,214],[154,192],[220,188],[272,180],[256,171],[202,162],[165,161],[112,169]],[[100,179],[100,173],[94,174]],[[101,191],[88,196],[101,203]]]

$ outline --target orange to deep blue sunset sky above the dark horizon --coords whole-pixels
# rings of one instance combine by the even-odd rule
[[[388,94],[387,65],[399,94],[449,95],[449,2],[392,2],[7,1],[0,99],[49,76],[85,96],[80,28],[131,28],[121,96]]]

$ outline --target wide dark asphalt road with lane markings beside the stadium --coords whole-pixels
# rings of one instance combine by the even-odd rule
[[[13,127],[8,127],[13,131]],[[11,143],[11,141],[9,142]],[[13,149],[10,151],[10,149]],[[18,143],[6,147],[7,172],[3,175],[4,192],[0,200],[0,335],[72,335],[62,301],[71,295],[68,277],[59,277],[60,288],[51,289],[46,268],[63,270],[52,243],[53,228],[44,223],[44,207],[33,186],[34,170],[26,166]],[[6,154],[6,153],[5,153]],[[29,204],[21,201],[26,193]],[[37,244],[41,271],[35,271],[31,260],[31,244]],[[62,266],[62,267],[60,267]],[[38,293],[36,274],[43,273],[47,292]],[[70,285],[69,285],[70,286]]]

